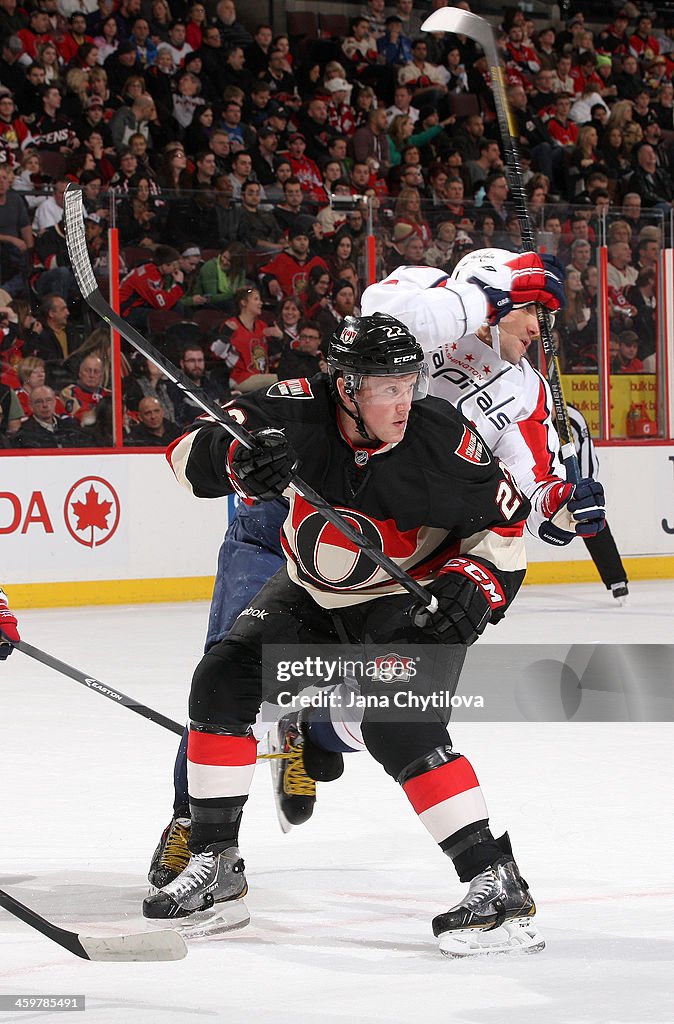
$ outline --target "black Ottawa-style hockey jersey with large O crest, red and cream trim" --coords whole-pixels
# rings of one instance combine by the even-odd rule
[[[503,614],[523,579],[530,504],[448,402],[413,402],[403,440],[378,449],[348,440],[323,375],[280,381],[226,410],[248,430],[285,429],[302,479],[419,582],[440,570],[465,572],[466,561],[478,566],[476,572],[481,566],[493,574],[501,599],[494,602],[492,621]],[[167,458],[193,494],[220,497],[231,493],[225,471],[230,440],[220,424],[202,420]],[[292,487],[287,495],[282,542],[288,572],[319,604],[339,607],[402,592]]]

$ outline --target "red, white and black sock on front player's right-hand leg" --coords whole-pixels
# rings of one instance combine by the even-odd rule
[[[489,828],[489,812],[474,769],[451,746],[436,746],[397,777],[422,824],[469,882],[503,855]]]

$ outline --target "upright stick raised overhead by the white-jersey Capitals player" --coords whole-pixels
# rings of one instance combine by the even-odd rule
[[[485,51],[492,76],[492,90],[494,92],[496,114],[506,157],[508,184],[515,203],[522,245],[525,252],[536,252],[534,230],[529,216],[521,167],[519,166],[519,136],[508,104],[503,69],[499,61],[492,26],[486,18],[478,17],[477,14],[471,14],[469,11],[461,10],[459,7],[440,7],[426,18],[421,28],[424,32],[454,32],[462,36],[468,36],[470,39],[474,39],[476,43],[479,43]],[[566,402],[561,389],[559,360],[554,350],[550,322],[547,310],[540,303],[537,304],[537,313],[543,351],[545,352],[545,359],[548,366],[548,383],[552,392],[557,432],[561,442],[561,461],[566,469],[566,479],[571,483],[578,483],[581,478],[581,471],[576,455],[574,435],[568,421]]]

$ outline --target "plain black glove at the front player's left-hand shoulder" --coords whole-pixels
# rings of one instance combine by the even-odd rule
[[[242,498],[270,502],[281,498],[299,462],[283,430],[263,427],[251,430],[257,441],[252,449],[234,440],[227,452],[227,476]]]

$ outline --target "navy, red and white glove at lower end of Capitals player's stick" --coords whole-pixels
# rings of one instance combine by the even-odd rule
[[[606,521],[603,487],[591,477],[553,484],[543,497],[541,510],[546,521],[539,526],[539,537],[557,546],[570,544],[575,537],[595,537]]]

